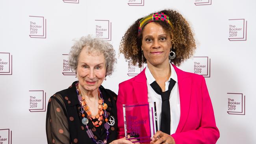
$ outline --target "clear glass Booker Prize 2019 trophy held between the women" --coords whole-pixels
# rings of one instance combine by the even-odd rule
[[[123,112],[126,139],[133,143],[149,143],[158,130],[156,102],[126,104],[123,105]]]

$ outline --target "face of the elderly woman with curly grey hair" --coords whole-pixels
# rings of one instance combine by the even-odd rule
[[[78,56],[76,74],[79,84],[84,90],[97,90],[106,76],[104,55],[99,52],[89,54],[86,48],[83,48]]]

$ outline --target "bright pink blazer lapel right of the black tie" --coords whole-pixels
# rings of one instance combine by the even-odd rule
[[[180,122],[176,129],[176,133],[180,133],[186,123],[189,113],[192,79],[191,76],[189,76],[186,72],[178,69],[175,65],[173,65],[173,67],[178,77],[178,87],[180,94]]]

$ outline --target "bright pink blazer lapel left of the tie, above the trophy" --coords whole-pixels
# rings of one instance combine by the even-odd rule
[[[146,103],[148,102],[148,88],[147,88],[147,79],[145,75],[145,68],[144,70],[139,73],[134,78],[133,84],[133,98],[137,100],[137,103]],[[134,102],[136,102],[134,100]]]

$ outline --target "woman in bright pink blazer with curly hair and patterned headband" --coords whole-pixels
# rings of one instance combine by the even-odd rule
[[[219,130],[204,77],[176,67],[191,57],[195,48],[188,22],[173,10],[139,18],[128,28],[120,51],[134,65],[147,66],[119,84],[119,137],[124,136],[123,104],[156,102],[160,131],[151,144],[216,143]]]

